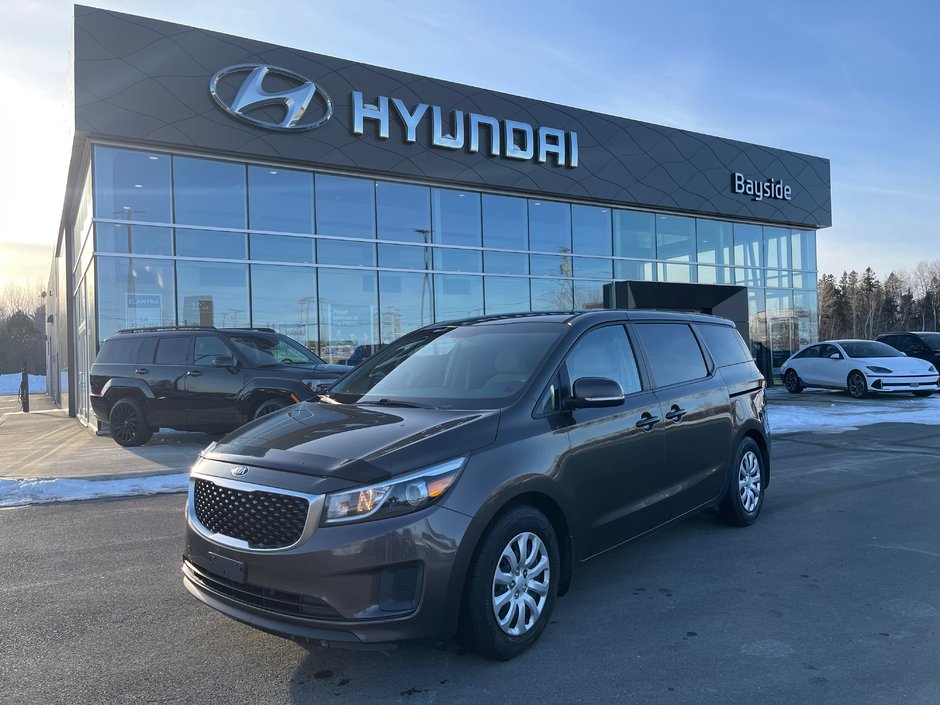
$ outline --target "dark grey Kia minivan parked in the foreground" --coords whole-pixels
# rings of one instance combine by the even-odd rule
[[[770,481],[764,379],[730,321],[519,314],[399,338],[318,402],[211,445],[190,475],[187,589],[246,624],[509,659],[575,568]]]

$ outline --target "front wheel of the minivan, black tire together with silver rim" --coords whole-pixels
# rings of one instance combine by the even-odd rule
[[[528,560],[519,560],[522,551]],[[474,553],[458,639],[481,656],[508,661],[532,646],[551,618],[561,570],[558,538],[544,514],[520,506],[487,529]]]

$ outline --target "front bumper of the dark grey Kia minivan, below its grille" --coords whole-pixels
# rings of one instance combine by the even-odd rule
[[[186,589],[258,629],[354,646],[446,637],[456,627],[462,570],[455,572],[455,564],[470,524],[458,512],[431,507],[317,527],[276,551],[213,540],[189,511],[186,524]],[[234,571],[226,568],[233,565]]]

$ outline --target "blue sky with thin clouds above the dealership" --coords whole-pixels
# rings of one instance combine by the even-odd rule
[[[86,4],[831,160],[819,271],[940,257],[940,3],[99,0]],[[48,276],[73,5],[0,0],[0,286]]]

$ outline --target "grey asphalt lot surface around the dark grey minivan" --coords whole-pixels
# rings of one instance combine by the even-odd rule
[[[937,506],[936,426],[778,436],[757,524],[701,514],[588,562],[505,664],[213,612],[181,585],[182,495],[3,510],[0,703],[936,705]]]

